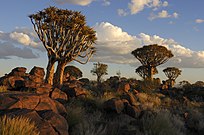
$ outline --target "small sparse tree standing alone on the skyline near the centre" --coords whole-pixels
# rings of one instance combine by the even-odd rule
[[[97,83],[100,84],[102,81],[102,77],[108,74],[108,65],[103,63],[94,63],[94,68],[91,70],[93,75],[97,76]]]

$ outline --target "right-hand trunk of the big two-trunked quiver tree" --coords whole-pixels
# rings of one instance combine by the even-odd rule
[[[56,85],[57,86],[60,86],[63,84],[65,66],[66,66],[65,61],[58,61],[57,71],[56,71]]]

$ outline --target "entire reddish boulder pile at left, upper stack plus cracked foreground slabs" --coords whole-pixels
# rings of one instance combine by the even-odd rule
[[[66,93],[44,83],[44,69],[14,68],[0,78],[8,92],[0,93],[0,116],[23,116],[35,122],[40,135],[68,135],[67,112],[63,102]]]

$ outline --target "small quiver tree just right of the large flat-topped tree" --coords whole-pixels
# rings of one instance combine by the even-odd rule
[[[176,67],[167,67],[163,70],[163,72],[165,73],[165,75],[168,77],[168,85],[170,87],[173,87],[173,85],[175,84],[175,80],[176,78],[181,75],[181,70],[179,70]]]

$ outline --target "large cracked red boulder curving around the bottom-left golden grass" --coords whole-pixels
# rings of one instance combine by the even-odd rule
[[[67,112],[58,101],[28,92],[0,93],[0,116],[24,116],[34,121],[40,135],[68,135]]]

